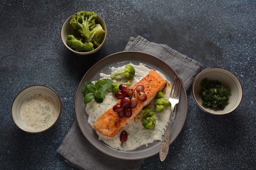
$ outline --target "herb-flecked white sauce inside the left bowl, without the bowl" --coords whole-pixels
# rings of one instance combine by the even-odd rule
[[[59,106],[49,94],[29,96],[20,108],[22,121],[32,129],[48,128],[58,117]]]

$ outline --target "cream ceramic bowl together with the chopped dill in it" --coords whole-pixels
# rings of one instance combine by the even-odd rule
[[[207,68],[195,77],[192,93],[195,103],[204,112],[224,115],[239,106],[243,98],[243,87],[230,71]]]

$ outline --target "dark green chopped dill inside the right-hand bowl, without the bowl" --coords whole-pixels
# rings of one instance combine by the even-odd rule
[[[224,110],[225,106],[229,104],[231,90],[218,80],[208,80],[204,78],[200,86],[202,86],[200,91],[202,106],[205,108],[220,108]]]

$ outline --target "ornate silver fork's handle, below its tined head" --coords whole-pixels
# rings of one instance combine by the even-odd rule
[[[160,146],[160,151],[159,151],[159,157],[161,161],[164,161],[164,159],[166,158],[168,151],[169,151],[169,147],[170,147],[170,130],[171,130],[171,120],[173,117],[173,110],[174,110],[174,106],[171,106],[171,114],[168,120],[168,124],[166,127],[166,131],[164,132],[164,137]]]

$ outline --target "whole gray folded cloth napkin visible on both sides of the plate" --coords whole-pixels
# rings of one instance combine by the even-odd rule
[[[195,60],[164,44],[149,42],[141,36],[131,37],[124,51],[141,51],[164,60],[183,79],[186,90],[202,68],[202,65]],[[144,159],[121,160],[103,154],[83,136],[77,121],[74,121],[57,152],[66,159],[67,163],[81,170],[139,170],[144,161]]]

